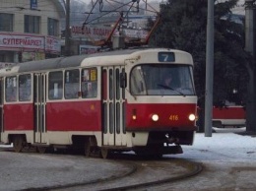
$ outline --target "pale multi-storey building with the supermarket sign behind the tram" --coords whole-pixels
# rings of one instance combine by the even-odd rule
[[[0,67],[60,55],[59,0],[0,0]]]

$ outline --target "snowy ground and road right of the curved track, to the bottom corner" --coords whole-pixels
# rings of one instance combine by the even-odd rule
[[[167,156],[203,163],[204,169],[199,175],[149,188],[147,191],[256,190],[256,136],[235,133],[244,132],[245,128],[225,128],[216,129],[216,131],[212,137],[197,133],[194,145],[183,147],[184,154]]]

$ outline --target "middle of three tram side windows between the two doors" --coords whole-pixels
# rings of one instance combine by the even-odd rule
[[[78,98],[79,79],[79,70],[65,72],[65,98]]]

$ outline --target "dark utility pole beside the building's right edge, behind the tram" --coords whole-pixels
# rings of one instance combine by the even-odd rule
[[[65,56],[70,56],[70,0],[66,0]]]

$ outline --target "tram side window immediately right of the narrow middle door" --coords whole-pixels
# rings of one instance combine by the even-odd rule
[[[61,99],[63,97],[63,73],[62,71],[49,73],[49,99]]]

